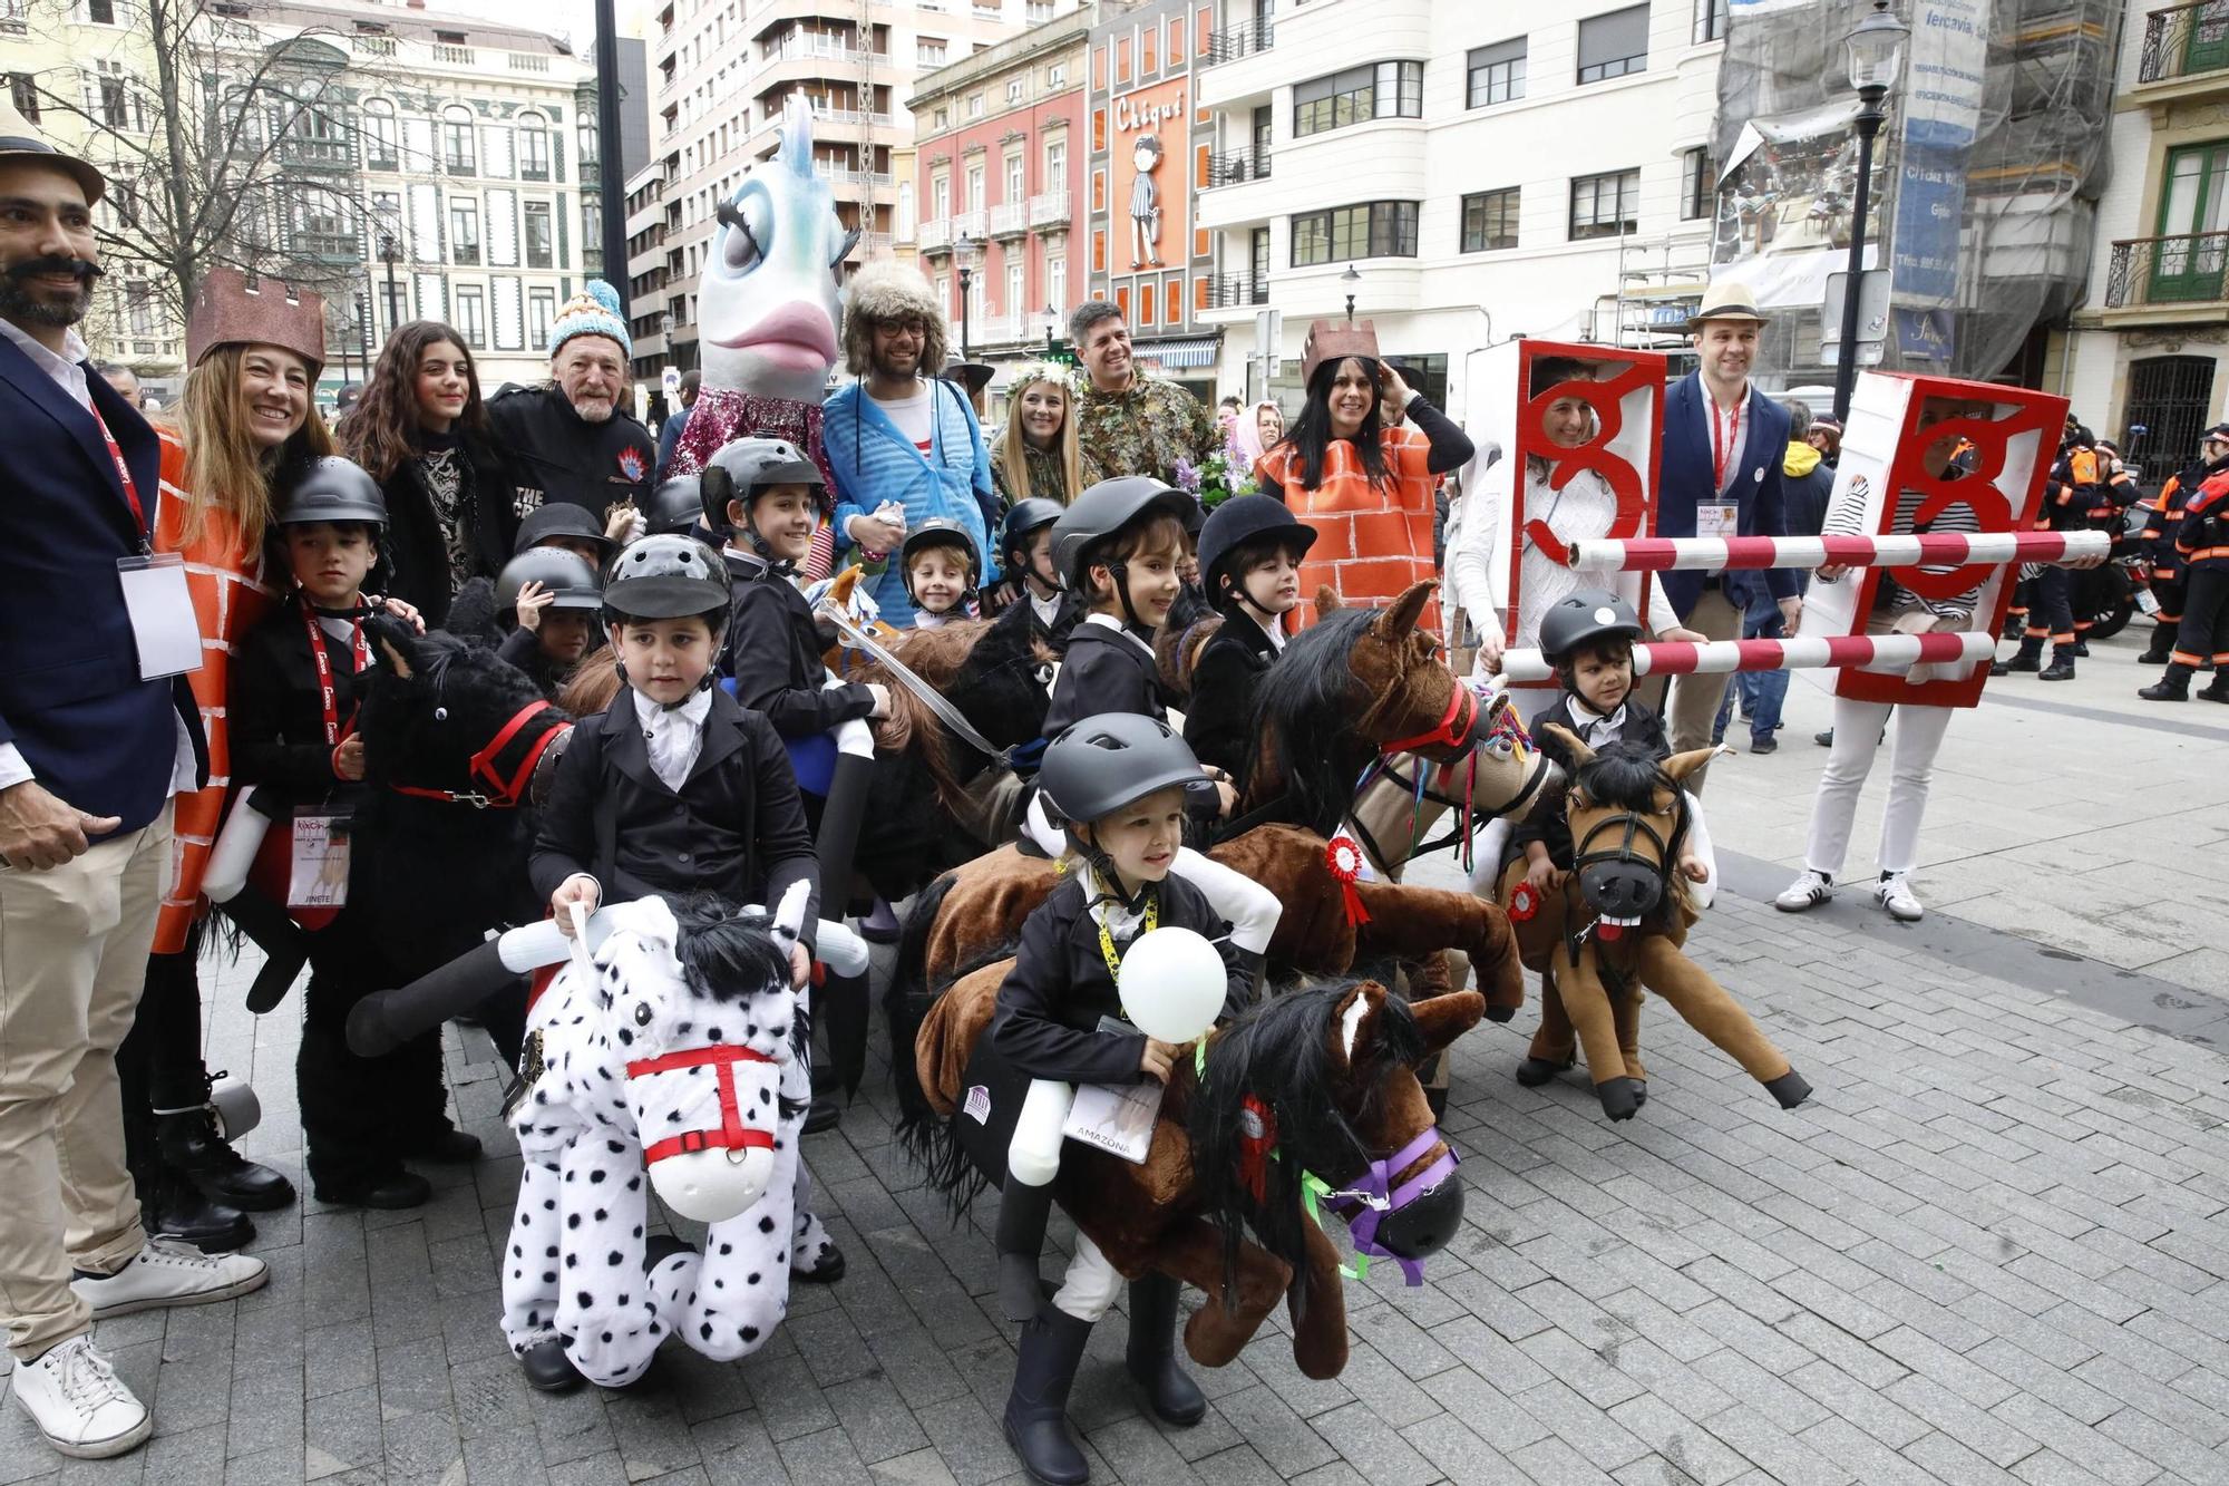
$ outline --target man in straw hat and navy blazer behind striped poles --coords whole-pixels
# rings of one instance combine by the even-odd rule
[[[1788,411],[1750,384],[1763,326],[1765,317],[1745,283],[1721,279],[1703,290],[1703,303],[1687,321],[1701,366],[1665,393],[1656,535],[1788,535],[1781,506]],[[1785,627],[1794,629],[1803,609],[1797,573],[1783,567],[1665,573],[1663,580],[1678,623],[1712,640],[1741,636],[1741,611],[1759,587],[1779,602]],[[1672,685],[1665,707],[1672,752],[1710,745],[1725,685],[1725,674],[1681,676]],[[1701,783],[1703,770],[1687,776],[1690,790]]]

